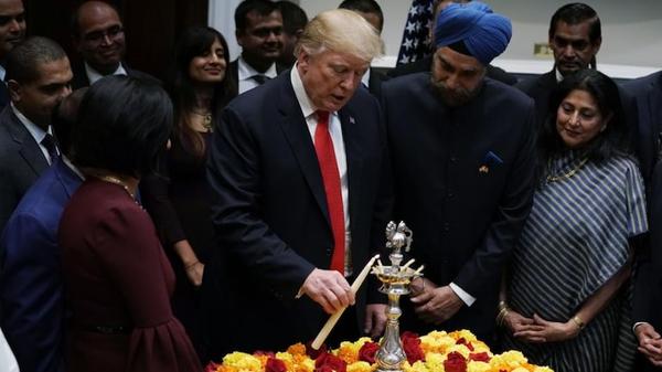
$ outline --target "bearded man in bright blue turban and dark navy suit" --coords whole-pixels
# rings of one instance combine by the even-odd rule
[[[532,204],[534,107],[484,78],[511,23],[483,7],[446,8],[431,73],[384,83],[382,107],[395,216],[414,232],[412,255],[426,266],[403,328],[467,328],[491,342],[501,274]]]

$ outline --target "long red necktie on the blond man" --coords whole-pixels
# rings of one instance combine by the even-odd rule
[[[331,219],[333,231],[333,256],[331,257],[331,269],[344,275],[344,212],[342,206],[342,193],[340,190],[340,172],[333,151],[333,140],[329,134],[329,111],[317,111],[318,126],[314,130],[314,152],[318,156],[324,193],[327,194],[327,206]]]

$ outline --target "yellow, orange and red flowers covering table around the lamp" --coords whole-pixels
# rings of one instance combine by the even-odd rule
[[[519,351],[493,354],[468,330],[433,331],[423,337],[404,332],[401,339],[407,355],[405,372],[553,372],[530,364]],[[378,349],[369,338],[342,342],[330,351],[297,343],[285,352],[233,352],[222,364],[210,363],[206,372],[372,372],[377,368]]]

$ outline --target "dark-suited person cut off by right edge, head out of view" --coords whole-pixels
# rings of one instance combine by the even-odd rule
[[[660,161],[662,72],[630,81],[623,87],[637,99],[641,169],[642,172],[651,170],[652,173],[648,188],[650,241],[638,252],[633,320],[639,351],[648,360],[639,370],[653,371],[653,365],[658,369],[662,368],[662,338],[660,337],[662,317],[659,310],[662,305],[662,253],[660,252],[662,245],[662,228],[660,228],[662,223],[662,161]],[[654,168],[652,164],[655,164]]]

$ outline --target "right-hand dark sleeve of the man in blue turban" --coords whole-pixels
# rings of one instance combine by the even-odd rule
[[[527,110],[528,113],[523,113],[527,119],[519,141],[520,149],[493,222],[482,244],[453,280],[474,297],[481,293],[485,284],[499,281],[533,203],[535,177],[533,105]]]

